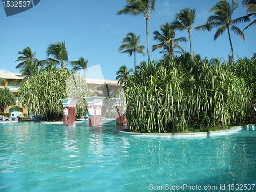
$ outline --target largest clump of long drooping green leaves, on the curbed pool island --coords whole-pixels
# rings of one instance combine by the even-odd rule
[[[124,84],[131,131],[184,132],[204,125],[243,121],[251,91],[243,78],[189,55],[153,61]],[[193,128],[193,129],[194,129]]]

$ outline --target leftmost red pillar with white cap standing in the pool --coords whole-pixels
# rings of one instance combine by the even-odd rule
[[[76,102],[79,99],[59,99],[63,105],[63,123],[64,126],[76,125]]]

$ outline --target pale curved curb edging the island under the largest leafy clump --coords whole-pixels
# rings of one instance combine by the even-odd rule
[[[255,125],[235,126],[226,130],[209,131],[209,132],[191,132],[191,133],[135,133],[119,130],[120,134],[131,135],[135,137],[168,137],[168,138],[193,138],[193,137],[210,137],[215,135],[227,135],[239,130],[254,127]]]

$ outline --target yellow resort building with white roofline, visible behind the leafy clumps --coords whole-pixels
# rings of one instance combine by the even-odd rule
[[[9,90],[16,96],[16,105],[14,107],[9,106],[8,108],[1,109],[1,113],[11,113],[12,116],[18,116],[19,114],[21,116],[24,116],[24,114],[29,115],[28,108],[22,108],[22,105],[18,101],[19,83],[26,77],[22,76],[21,73],[10,72],[0,72],[0,77],[6,79],[5,83],[1,82],[1,88],[9,88]],[[95,96],[96,93],[100,94],[97,96],[102,96],[104,94],[103,90],[106,89],[106,85],[108,85],[110,94],[114,91],[118,91],[120,88],[120,84],[118,84],[118,81],[115,80],[86,78],[86,82],[91,96]]]

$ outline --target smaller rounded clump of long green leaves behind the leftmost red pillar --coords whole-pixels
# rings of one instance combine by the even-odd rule
[[[20,86],[19,97],[29,111],[45,117],[48,121],[61,121],[62,103],[59,99],[77,98],[76,118],[86,113],[86,100],[89,96],[86,81],[68,69],[40,70],[26,79]]]

